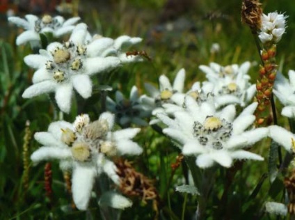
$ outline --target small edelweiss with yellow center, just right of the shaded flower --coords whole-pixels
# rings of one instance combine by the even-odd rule
[[[184,89],[185,71],[181,69],[177,72],[173,86],[165,75],[159,78],[160,88],[157,89],[152,84],[145,83],[145,89],[150,93],[151,97],[143,95],[142,100],[145,104],[150,105],[154,111],[153,114],[164,111],[161,106],[164,103],[170,103],[173,94],[182,93]]]

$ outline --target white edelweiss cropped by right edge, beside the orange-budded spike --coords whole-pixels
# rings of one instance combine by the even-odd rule
[[[282,116],[295,118],[295,71],[289,70],[289,80],[278,72],[273,93],[285,106],[282,108]]]

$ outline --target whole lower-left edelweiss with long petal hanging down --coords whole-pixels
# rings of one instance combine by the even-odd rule
[[[42,147],[31,155],[33,162],[58,159],[62,169],[72,169],[72,195],[79,210],[86,210],[95,178],[102,173],[120,184],[112,157],[142,152],[138,144],[131,141],[139,129],[111,132],[113,123],[114,116],[109,112],[102,113],[92,123],[84,114],[73,124],[51,123],[48,132],[37,132],[34,136]]]

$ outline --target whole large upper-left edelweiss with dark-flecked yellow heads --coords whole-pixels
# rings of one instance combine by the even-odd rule
[[[55,92],[56,103],[65,113],[70,111],[73,88],[84,99],[90,97],[90,76],[118,67],[120,60],[113,56],[99,57],[96,51],[102,50],[104,41],[88,44],[87,36],[86,24],[78,24],[69,41],[53,42],[47,50],[40,49],[40,54],[26,56],[25,63],[38,70],[33,75],[33,85],[22,97]]]

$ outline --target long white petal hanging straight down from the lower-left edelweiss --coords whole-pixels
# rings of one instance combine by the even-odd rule
[[[95,182],[96,171],[93,167],[79,166],[74,168],[72,174],[72,196],[79,210],[88,207],[91,191]]]

